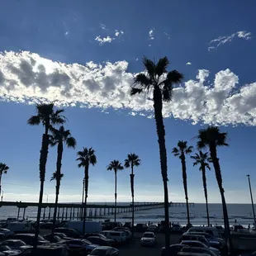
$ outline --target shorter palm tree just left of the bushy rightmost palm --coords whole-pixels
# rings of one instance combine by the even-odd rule
[[[210,226],[210,217],[209,217],[209,210],[208,210],[208,195],[207,195],[207,185],[206,185],[206,168],[208,170],[211,170],[210,163],[211,158],[208,155],[208,152],[202,153],[201,150],[199,150],[199,154],[195,154],[191,156],[192,159],[195,160],[193,163],[193,166],[200,164],[199,170],[201,171],[202,176],[202,186],[205,192],[206,197],[206,215],[207,215],[207,224]]]

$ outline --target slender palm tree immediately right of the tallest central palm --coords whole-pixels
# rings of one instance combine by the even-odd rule
[[[187,166],[186,166],[186,154],[191,154],[193,150],[192,146],[187,146],[187,141],[178,140],[177,147],[173,148],[173,154],[178,156],[182,162],[183,168],[183,186],[185,192],[186,206],[187,206],[187,225],[190,226],[188,195],[187,195]]]

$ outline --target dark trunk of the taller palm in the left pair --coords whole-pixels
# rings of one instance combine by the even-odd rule
[[[48,156],[48,147],[49,147],[49,135],[48,135],[48,128],[46,127],[45,134],[42,137],[42,145],[41,145],[41,149],[40,149],[40,164],[39,164],[40,195],[39,195],[37,217],[36,217],[34,249],[36,249],[36,247],[37,247],[37,239],[38,239],[39,228],[40,228],[40,215],[41,215],[42,201],[43,201],[43,195],[44,195],[45,167],[46,167],[47,156]]]

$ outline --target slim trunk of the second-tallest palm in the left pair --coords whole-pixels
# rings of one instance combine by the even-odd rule
[[[58,144],[58,153],[57,153],[57,163],[56,163],[56,196],[55,196],[55,211],[54,211],[54,221],[52,227],[52,234],[55,233],[56,217],[57,217],[57,208],[58,208],[58,198],[59,198],[59,187],[60,187],[60,175],[61,175],[61,161],[63,154],[63,143],[59,141]]]

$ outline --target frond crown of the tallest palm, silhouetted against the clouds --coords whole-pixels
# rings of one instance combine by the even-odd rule
[[[181,83],[183,74],[178,73],[177,70],[167,72],[169,64],[167,57],[159,59],[157,64],[144,57],[143,64],[145,65],[145,73],[139,73],[135,76],[135,85],[131,88],[130,95],[159,88],[163,100],[171,101],[173,84]]]

